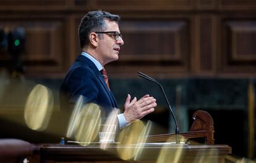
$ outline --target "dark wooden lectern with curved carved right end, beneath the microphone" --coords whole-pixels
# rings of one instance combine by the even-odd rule
[[[197,111],[193,115],[194,122],[189,132],[181,133],[186,142],[194,138],[202,138],[205,143],[172,144],[166,140],[176,138],[175,134],[150,135],[143,145],[120,146],[111,144],[101,149],[98,143],[88,146],[80,145],[42,145],[40,147],[41,163],[49,162],[225,162],[225,156],[231,154],[228,145],[214,145],[213,119],[205,111]],[[121,159],[117,151],[121,148],[137,149],[143,146],[136,159]]]

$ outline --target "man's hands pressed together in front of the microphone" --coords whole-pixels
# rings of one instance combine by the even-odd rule
[[[145,95],[138,101],[137,98],[134,97],[134,99],[130,101],[130,95],[128,94],[126,103],[124,103],[124,117],[126,117],[127,123],[131,123],[141,119],[149,113],[152,113],[156,106],[156,99],[150,97],[150,95]]]

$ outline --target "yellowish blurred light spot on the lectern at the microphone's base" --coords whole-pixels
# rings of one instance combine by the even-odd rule
[[[177,135],[181,143],[176,143],[176,140],[170,139],[163,143],[160,154],[157,159],[157,163],[177,163],[182,162],[184,157],[184,138],[181,135]],[[170,148],[171,147],[171,148]]]

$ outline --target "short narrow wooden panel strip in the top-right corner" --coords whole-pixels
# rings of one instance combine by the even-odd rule
[[[256,1],[251,0],[220,0],[221,10],[255,10]]]

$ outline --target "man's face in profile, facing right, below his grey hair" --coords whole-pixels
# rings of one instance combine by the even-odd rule
[[[108,28],[105,31],[119,31],[119,26],[116,22],[105,20]],[[103,39],[100,39],[98,44],[98,54],[101,57],[103,66],[114,60],[118,60],[118,54],[120,47],[124,44],[124,41],[121,37],[116,41],[113,35],[103,34]]]

